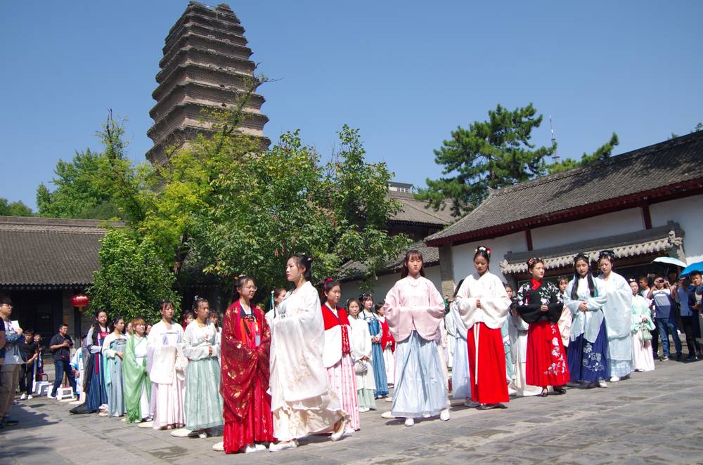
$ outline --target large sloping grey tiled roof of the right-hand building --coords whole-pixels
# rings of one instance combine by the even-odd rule
[[[494,190],[477,209],[426,238],[434,246],[496,237],[703,192],[703,131],[580,168]]]

